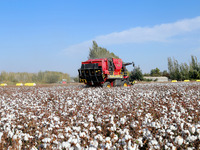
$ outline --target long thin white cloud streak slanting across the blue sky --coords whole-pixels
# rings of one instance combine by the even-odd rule
[[[166,42],[174,36],[200,30],[200,16],[192,19],[184,19],[174,23],[155,25],[153,27],[135,27],[121,32],[97,36],[92,39],[101,45],[114,45],[126,43]],[[71,45],[65,49],[65,53],[85,52],[92,45],[92,40]]]

